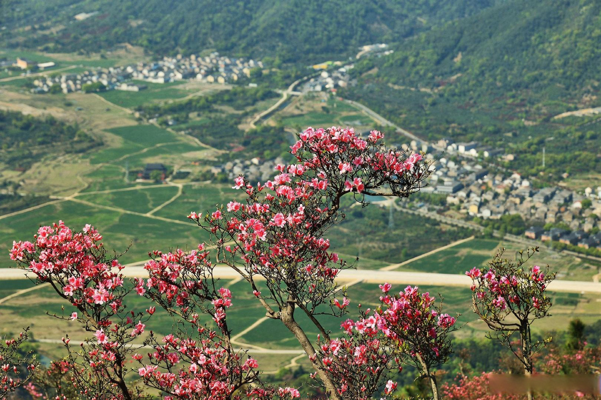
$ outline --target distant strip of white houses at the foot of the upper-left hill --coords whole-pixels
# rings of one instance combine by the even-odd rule
[[[140,91],[145,85],[136,85],[133,80],[150,83],[166,83],[175,80],[195,79],[208,83],[236,82],[242,77],[250,77],[253,68],[263,68],[261,61],[220,56],[211,53],[200,57],[163,57],[154,62],[139,62],[125,67],[96,68],[77,74],[62,74],[53,77],[41,77],[34,80],[33,93],[50,91],[53,85],[59,85],[64,93],[81,91],[88,83],[100,82],[105,90]]]

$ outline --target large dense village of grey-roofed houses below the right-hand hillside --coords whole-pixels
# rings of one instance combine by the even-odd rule
[[[459,154],[470,154],[478,146],[475,142],[433,143],[435,149],[442,145],[452,145]],[[436,150],[432,152],[431,146],[415,140],[403,147],[427,152],[426,158],[433,161],[429,185],[422,191],[446,195],[447,205],[457,205],[465,215],[499,219],[502,215],[519,214],[525,221],[540,224],[564,222],[572,231],[601,228],[601,187],[596,191],[587,188],[584,194],[559,187],[536,189],[517,173],[489,173],[471,157],[435,160]]]

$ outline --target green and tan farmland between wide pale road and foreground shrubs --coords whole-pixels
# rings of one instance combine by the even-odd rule
[[[230,288],[233,294],[233,306],[228,310],[228,327],[232,335],[242,332],[242,330],[254,324],[260,318],[264,317],[264,309],[251,293],[248,284],[243,281],[230,282],[221,281],[219,286]],[[394,285],[392,291],[403,290],[405,284]],[[14,280],[0,281],[0,299],[4,296],[14,293],[23,288],[32,287],[31,281]],[[259,283],[259,289],[264,290],[264,284]],[[487,331],[486,326],[475,318],[471,312],[471,291],[469,288],[444,287],[444,286],[423,286],[421,291],[429,291],[438,299],[444,297],[444,312],[451,315],[457,312],[462,314],[459,317],[459,323],[462,328],[456,333],[459,338],[480,338]],[[376,284],[356,284],[349,288],[349,297],[351,306],[349,314],[344,318],[356,318],[355,305],[361,303],[363,308],[378,305],[378,297],[382,292]],[[581,318],[585,323],[592,323],[599,319],[598,305],[601,302],[599,295],[582,295],[576,293],[550,293],[554,306],[552,316],[534,323],[534,332],[545,332],[549,330],[566,329],[568,323],[573,318]],[[131,294],[126,299],[127,305],[132,309],[145,309],[150,305],[149,300],[137,294]],[[59,339],[66,333],[75,339],[81,340],[89,334],[79,329],[75,324],[66,321],[56,320],[46,315],[46,312],[61,314],[61,305],[64,305],[65,315],[72,312],[71,306],[64,304],[52,288],[41,287],[20,296],[13,297],[0,304],[0,315],[4,324],[0,326],[0,335],[7,332],[14,332],[20,329],[20,326],[31,326],[34,338],[38,339]],[[310,339],[316,339],[317,330],[308,321],[307,317],[301,311],[297,311],[296,320],[305,328]],[[344,319],[343,318],[343,319]],[[340,333],[341,318],[328,317],[321,315],[319,320],[326,329],[332,330],[333,336]],[[209,321],[207,319],[207,321]],[[159,335],[166,335],[171,332],[174,319],[161,311],[157,310],[153,318],[147,323],[147,330],[152,329]],[[140,339],[142,341],[143,338]],[[254,329],[239,337],[237,341],[265,348],[299,348],[296,339],[291,333],[276,320],[264,320]],[[40,343],[40,351],[47,357],[55,358],[61,353],[60,344]],[[252,350],[250,351],[252,354]],[[290,354],[281,354],[278,356],[263,357],[264,368],[267,370],[278,369],[284,365],[286,360],[293,356]]]

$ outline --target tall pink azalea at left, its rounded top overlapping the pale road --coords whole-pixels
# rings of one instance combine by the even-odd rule
[[[127,311],[124,299],[132,288],[124,285],[117,256],[106,255],[102,235],[91,225],[75,232],[59,221],[40,227],[34,242],[14,242],[10,257],[77,310],[53,316],[77,321],[93,334],[77,351],[69,337],[63,338],[79,392],[99,393],[97,399],[130,398],[124,380],[133,351],[129,343],[144,333],[152,312]]]

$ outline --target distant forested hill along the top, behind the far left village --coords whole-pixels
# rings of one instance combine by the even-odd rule
[[[9,29],[0,32],[0,41],[49,52],[97,52],[130,43],[160,55],[216,49],[311,62],[355,55],[364,44],[400,41],[498,2],[5,0],[1,23]]]

